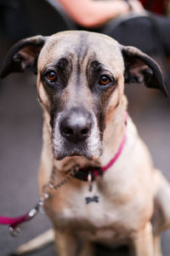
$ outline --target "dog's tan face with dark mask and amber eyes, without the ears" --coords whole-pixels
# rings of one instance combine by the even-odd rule
[[[102,153],[106,112],[110,100],[115,108],[119,103],[124,73],[118,44],[105,38],[101,53],[102,45],[98,35],[60,33],[39,55],[39,98],[50,115],[57,159],[72,155],[93,159]]]

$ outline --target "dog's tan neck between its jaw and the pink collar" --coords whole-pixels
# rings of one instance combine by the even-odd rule
[[[48,166],[55,166],[58,170],[67,171],[74,165],[84,166],[105,166],[114,157],[119,148],[122,137],[125,132],[125,116],[126,116],[127,100],[122,97],[122,102],[116,108],[115,112],[107,119],[107,126],[103,137],[103,154],[96,160],[88,160],[82,156],[65,157],[64,160],[54,160],[52,148],[50,147],[50,132],[47,132],[48,125],[44,123],[45,137],[43,137],[43,148],[46,148],[46,159],[48,158]],[[47,120],[47,119],[46,119]],[[48,152],[47,152],[48,148]],[[43,150],[42,150],[43,151]],[[44,155],[44,154],[43,154]],[[49,165],[49,162],[51,163]],[[50,171],[49,171],[50,172]]]

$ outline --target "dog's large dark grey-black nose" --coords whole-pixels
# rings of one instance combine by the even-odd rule
[[[89,113],[84,111],[68,112],[60,122],[60,133],[68,141],[79,143],[87,139],[92,128],[92,119]]]

